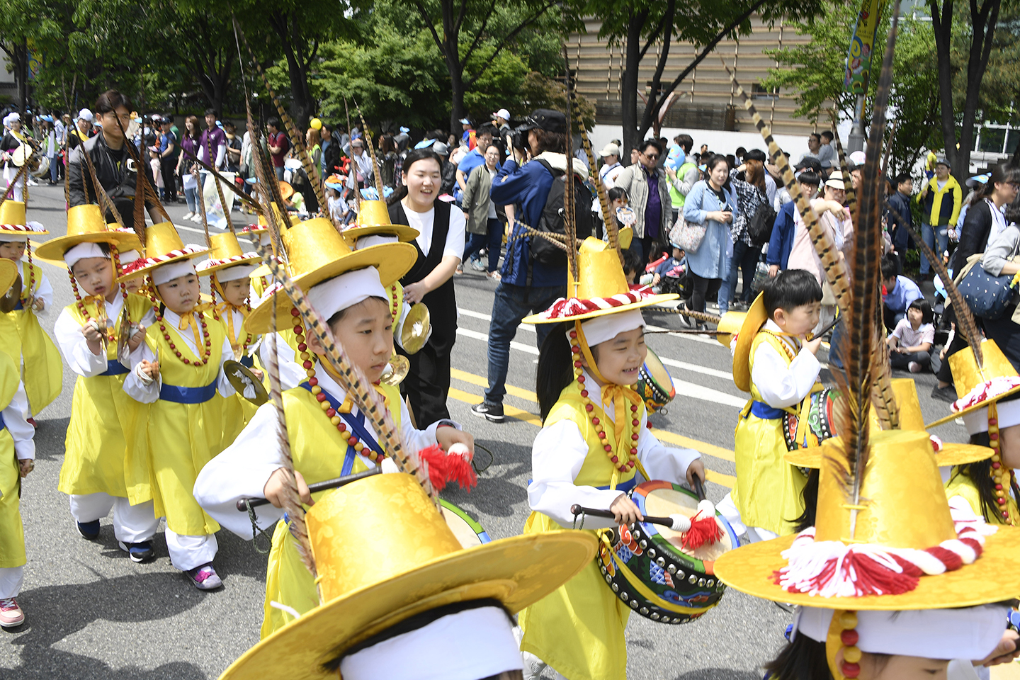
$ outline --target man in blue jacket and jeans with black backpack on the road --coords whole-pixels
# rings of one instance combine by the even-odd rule
[[[496,286],[493,300],[489,325],[489,387],[481,404],[471,407],[474,415],[492,422],[504,419],[503,398],[506,395],[510,341],[517,332],[521,319],[548,309],[566,294],[565,253],[563,263],[543,261],[534,254],[540,239],[522,237],[522,233],[525,226],[555,228],[555,225],[550,225],[550,216],[557,214],[557,206],[550,203],[552,210],[549,210],[547,202],[554,200],[550,198],[554,194],[554,182],[564,177],[567,171],[568,133],[565,115],[550,109],[536,110],[522,125],[506,134],[507,147],[513,149],[513,158],[507,160],[493,178],[492,201],[498,206],[518,204],[520,207],[517,210],[519,220],[507,241],[502,280]],[[588,168],[576,158],[572,167],[574,218],[578,238],[584,238],[592,232],[592,213],[589,210],[592,196],[581,185],[588,177]],[[556,187],[554,195],[560,206],[560,224],[564,188]],[[549,244],[538,246],[540,250],[541,246]],[[537,328],[539,347],[552,329],[551,324],[548,325],[550,327],[540,324]]]

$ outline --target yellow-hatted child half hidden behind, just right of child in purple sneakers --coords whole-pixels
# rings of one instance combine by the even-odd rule
[[[212,250],[209,259],[196,269],[199,276],[209,276],[216,315],[223,323],[226,337],[234,350],[231,358],[251,369],[255,377],[261,379],[262,371],[255,366],[253,351],[258,334],[244,328],[245,319],[252,311],[251,274],[261,260],[256,253],[242,253],[241,244],[234,233],[226,231],[210,237]],[[222,300],[216,303],[216,298]],[[218,397],[215,399],[219,399]],[[223,446],[237,438],[245,425],[255,415],[255,405],[241,394],[223,400]]]

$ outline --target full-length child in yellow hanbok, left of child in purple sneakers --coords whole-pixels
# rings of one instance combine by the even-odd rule
[[[123,383],[132,355],[142,359],[145,327],[155,315],[148,299],[113,281],[121,256],[133,261],[141,247],[134,231],[108,229],[99,206],[81,205],[67,211],[67,236],[38,252],[41,258],[63,258],[78,300],[60,312],[53,329],[78,374],[58,488],[70,496],[78,531],[89,540],[99,536],[99,520],[112,510],[113,533],[135,562],[154,556],[159,520],[146,446],[149,407],[128,397]],[[121,326],[123,319],[129,326]],[[129,338],[119,337],[123,330]],[[118,357],[124,344],[128,356]]]

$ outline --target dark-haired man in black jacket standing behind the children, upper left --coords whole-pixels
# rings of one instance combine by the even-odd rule
[[[132,123],[131,110],[131,100],[116,90],[107,90],[96,100],[96,120],[102,123],[102,129],[95,137],[74,147],[67,166],[71,207],[99,203],[98,192],[83,156],[89,154],[96,168],[96,178],[112,200],[121,218],[129,219],[134,213],[135,187],[138,182],[136,158],[141,157],[137,149],[128,148],[134,142],[124,137],[125,132],[131,134],[129,129]],[[153,222],[160,221],[154,210],[155,204],[149,201],[146,204]],[[105,219],[107,222],[112,222],[113,215],[107,211]]]

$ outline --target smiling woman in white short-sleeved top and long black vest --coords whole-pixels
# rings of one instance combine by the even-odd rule
[[[450,353],[457,341],[453,272],[464,254],[464,213],[450,203],[436,201],[443,184],[443,161],[436,152],[426,148],[409,153],[402,179],[403,186],[391,199],[390,221],[411,226],[419,234],[414,241],[418,260],[400,282],[404,300],[428,307],[432,334],[417,354],[407,357],[411,368],[400,390],[416,422],[434,423],[450,418],[446,406]]]

